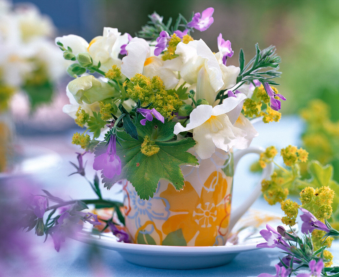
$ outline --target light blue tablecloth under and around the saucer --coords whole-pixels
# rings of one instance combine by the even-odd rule
[[[255,138],[252,145],[266,147],[276,145],[285,147],[289,144],[300,144],[299,135],[302,132],[302,123],[296,117],[287,117],[281,120],[279,124],[270,123],[270,125],[257,124],[259,137]],[[57,151],[61,156],[60,163],[49,170],[44,170],[35,175],[36,180],[43,185],[43,188],[49,190],[61,198],[88,198],[95,197],[88,184],[79,175],[67,177],[73,172],[73,168],[68,161],[76,160],[73,151],[77,148],[69,143],[67,136],[54,136],[50,140],[37,141],[35,138],[25,138],[25,142],[32,145],[49,147]],[[251,160],[252,159],[252,160]],[[248,166],[257,159],[255,155],[249,160],[242,161],[236,171],[235,188],[233,203],[236,206],[238,200],[243,199],[246,193],[250,193],[250,187],[246,189],[244,185],[248,180],[257,178],[247,173]],[[88,162],[89,164],[91,161]],[[89,167],[89,166],[88,166]],[[242,174],[237,174],[241,171]],[[91,176],[91,170],[87,171]],[[241,183],[241,186],[237,184]],[[103,190],[105,197],[121,199],[118,193],[119,188],[111,191]],[[246,192],[248,191],[248,192]],[[259,198],[253,205],[258,209],[270,209],[277,213],[282,213],[280,206],[269,206],[262,198]],[[283,257],[279,249],[256,249],[254,251],[240,253],[231,263],[199,270],[164,270],[142,267],[126,262],[117,252],[102,248],[93,248],[93,246],[68,239],[61,247],[60,252],[54,250],[51,238],[43,244],[43,238],[35,237],[34,230],[28,233],[29,239],[33,240],[35,248],[35,259],[24,269],[26,276],[257,276],[262,272],[275,275],[274,265],[279,262],[278,257]],[[335,241],[331,248],[335,256],[334,264],[339,265],[339,241]],[[18,272],[13,268],[8,268],[0,273],[4,276],[23,276],[17,275]]]

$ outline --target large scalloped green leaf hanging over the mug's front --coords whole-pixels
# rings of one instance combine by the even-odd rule
[[[152,122],[147,121],[145,126],[137,122],[136,126],[139,131],[138,140],[125,132],[117,133],[121,144],[121,146],[117,145],[117,154],[121,159],[122,172],[113,179],[102,176],[104,187],[109,189],[117,181],[127,179],[135,187],[139,197],[147,200],[153,197],[160,179],[168,180],[177,190],[182,189],[184,178],[180,165],[199,165],[195,156],[186,152],[195,145],[195,141],[192,138],[181,141],[172,140],[174,137],[173,122],[163,124],[154,119]],[[140,151],[146,135],[159,148],[157,153],[145,155]],[[104,151],[106,148],[101,143],[96,147],[95,155],[100,155]]]

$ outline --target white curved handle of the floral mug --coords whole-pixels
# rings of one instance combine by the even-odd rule
[[[265,150],[261,147],[251,146],[244,150],[238,150],[234,153],[234,172],[236,170],[237,164],[239,160],[246,154],[256,153],[261,154]],[[269,163],[263,169],[260,181],[254,187],[251,195],[245,199],[245,201],[236,209],[231,211],[231,219],[229,224],[229,230],[231,231],[234,225],[238,222],[238,220],[242,217],[242,215],[252,206],[252,204],[257,200],[257,198],[261,195],[261,182],[263,179],[270,178],[274,170],[273,163]]]

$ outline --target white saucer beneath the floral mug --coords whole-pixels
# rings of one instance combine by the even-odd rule
[[[250,209],[234,226],[224,246],[166,246],[117,242],[108,233],[95,235],[81,233],[78,240],[115,250],[128,262],[163,269],[200,269],[229,263],[244,251],[257,248],[265,240],[259,231],[266,224],[282,225],[280,216],[269,211]],[[288,227],[284,226],[286,229]]]

